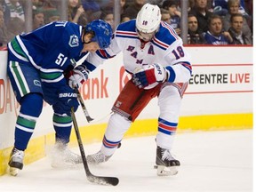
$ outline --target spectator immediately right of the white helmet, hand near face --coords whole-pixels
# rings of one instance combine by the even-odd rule
[[[176,33],[180,36],[180,16],[181,13],[177,9],[176,0],[165,0],[163,3],[163,8],[168,10],[171,15],[171,26],[174,28]]]

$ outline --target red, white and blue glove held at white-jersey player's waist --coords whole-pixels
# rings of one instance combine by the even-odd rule
[[[159,64],[146,65],[135,69],[132,81],[139,88],[144,88],[150,84],[163,83],[168,74],[168,70]]]

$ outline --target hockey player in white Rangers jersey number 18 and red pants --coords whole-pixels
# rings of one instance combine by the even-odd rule
[[[160,108],[156,134],[157,174],[177,173],[180,161],[171,154],[172,142],[178,126],[181,99],[192,70],[182,44],[175,30],[161,21],[159,7],[145,4],[136,20],[117,26],[107,49],[97,51],[85,60],[86,68],[92,71],[104,60],[123,52],[124,68],[132,75],[114,103],[114,113],[109,118],[100,151],[87,156],[89,163],[108,161],[132,122],[148,102],[157,97]]]

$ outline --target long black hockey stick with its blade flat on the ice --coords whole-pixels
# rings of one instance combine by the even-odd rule
[[[80,132],[78,129],[78,125],[76,122],[76,116],[75,116],[75,111],[74,108],[71,108],[71,116],[72,116],[72,120],[73,120],[73,124],[75,127],[75,132],[76,132],[76,139],[78,142],[78,146],[80,149],[80,153],[82,156],[82,160],[83,160],[83,164],[84,164],[84,170],[87,176],[87,180],[93,182],[93,183],[97,183],[100,185],[112,185],[112,186],[116,186],[119,182],[118,178],[116,177],[102,177],[102,176],[95,176],[92,174],[92,172],[90,172],[89,170],[89,166],[85,157],[85,153],[84,153],[84,146],[83,146],[83,142],[81,140],[81,136],[80,136]]]

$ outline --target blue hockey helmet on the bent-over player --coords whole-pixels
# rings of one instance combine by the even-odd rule
[[[97,42],[100,49],[105,49],[110,44],[112,36],[111,26],[104,20],[92,20],[84,27],[84,34],[93,33],[92,42]]]

